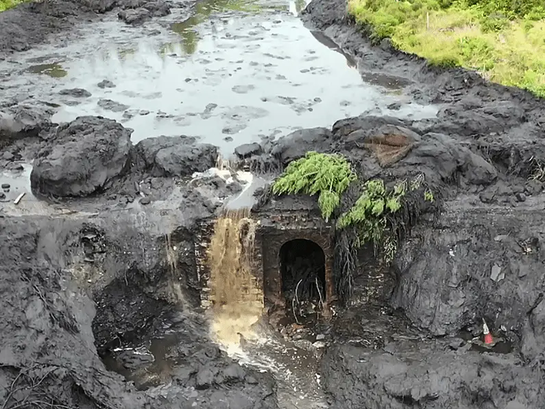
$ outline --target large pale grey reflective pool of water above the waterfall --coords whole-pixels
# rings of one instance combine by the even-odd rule
[[[56,121],[103,115],[134,129],[134,142],[193,135],[219,145],[223,154],[365,110],[435,115],[434,107],[402,99],[395,110],[387,108],[400,95],[364,82],[354,61],[306,30],[294,15],[303,6],[208,0],[190,19],[174,9],[143,28],[112,16],[83,27],[82,38],[69,45],[1,63],[8,75],[2,85],[6,96],[23,102],[28,96],[58,104]],[[63,91],[73,88],[90,96]]]

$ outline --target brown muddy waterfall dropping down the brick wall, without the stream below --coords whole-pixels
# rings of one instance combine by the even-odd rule
[[[263,312],[263,292],[252,274],[255,222],[250,209],[228,210],[215,222],[208,250],[213,338],[228,352],[239,349]]]

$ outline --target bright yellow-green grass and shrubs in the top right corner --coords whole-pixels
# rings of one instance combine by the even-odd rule
[[[348,0],[373,40],[545,97],[542,0]]]

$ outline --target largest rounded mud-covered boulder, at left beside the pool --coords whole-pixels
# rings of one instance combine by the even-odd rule
[[[34,161],[32,190],[44,196],[87,196],[108,187],[128,164],[130,132],[112,119],[78,117],[58,127]]]

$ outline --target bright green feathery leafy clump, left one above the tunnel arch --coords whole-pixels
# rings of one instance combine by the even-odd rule
[[[274,194],[308,194],[318,196],[318,207],[328,222],[341,203],[341,194],[356,180],[350,163],[339,154],[308,152],[291,162],[284,174],[272,185]]]

